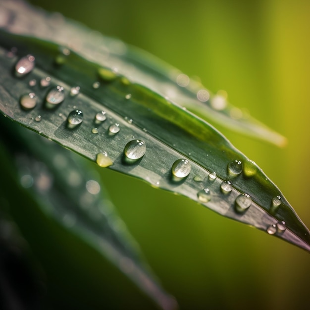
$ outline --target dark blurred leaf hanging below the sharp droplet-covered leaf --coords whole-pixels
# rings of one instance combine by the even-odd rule
[[[15,188],[30,195],[34,206],[111,261],[161,309],[176,302],[158,284],[139,247],[117,215],[96,171],[85,160],[25,128],[1,119],[0,193]],[[3,156],[8,155],[3,162]],[[7,203],[10,197],[7,197]],[[13,213],[18,212],[14,206]],[[23,212],[21,212],[23,213]],[[29,213],[31,211],[29,210]],[[29,223],[33,219],[25,219]],[[17,220],[17,224],[19,220]],[[35,223],[32,224],[35,227]]]

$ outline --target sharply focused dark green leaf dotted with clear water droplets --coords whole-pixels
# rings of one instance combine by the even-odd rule
[[[70,32],[73,28],[74,26],[68,30],[69,37],[74,37]],[[51,33],[54,30],[49,29]],[[48,38],[51,36],[50,32]],[[64,33],[61,35],[65,35]],[[101,38],[98,34],[96,36]],[[113,40],[107,40],[107,46],[113,43]],[[96,45],[97,41],[87,41],[88,48]],[[70,87],[81,85],[77,98],[66,96],[65,102],[57,110],[61,111],[57,117],[54,111],[45,106],[48,91],[37,86],[35,90],[41,106],[25,112],[19,107],[18,96],[29,93],[33,88],[25,85],[22,79],[11,76],[8,79],[3,78],[2,93],[6,97],[5,100],[2,99],[1,109],[4,114],[92,160],[96,160],[97,154],[106,152],[113,162],[111,169],[144,179],[155,187],[185,195],[222,215],[253,225],[310,250],[308,228],[261,169],[236,150],[206,121],[186,111],[182,105],[163,98],[160,91],[156,93],[152,88],[132,82],[143,80],[144,70],[142,73],[133,70],[132,74],[127,72],[128,75],[122,75],[109,67],[102,67],[100,61],[97,63],[95,59],[89,61],[90,57],[84,58],[83,53],[89,49],[83,53],[71,52],[65,57],[59,51],[58,42],[46,42],[5,32],[2,32],[2,42],[7,49],[15,46],[19,53],[35,53],[37,65],[24,79],[27,83],[30,82],[30,76],[39,81],[49,75],[52,77],[51,85],[61,85],[67,94]],[[114,41],[114,44],[118,45],[118,48],[122,46],[121,50],[124,49],[122,43]],[[55,63],[59,53],[65,59],[61,63]],[[11,71],[17,57],[13,55],[9,60],[5,52],[2,52],[2,55],[3,71]],[[94,54],[91,55],[94,58]],[[127,58],[124,58],[127,61]],[[131,63],[128,65],[132,67]],[[151,79],[158,79],[157,73],[148,75],[151,75]],[[15,90],[10,90],[12,81],[15,87],[20,89],[19,95]],[[94,89],[93,83],[99,83],[99,87]],[[166,83],[167,80],[164,80],[162,85],[170,88],[171,85]],[[4,102],[10,102],[11,105]],[[79,108],[83,107],[83,124],[74,130],[68,130],[67,116],[76,103]],[[14,107],[11,108],[12,106]],[[108,121],[99,127],[100,135],[96,136],[91,129],[95,126],[94,115],[101,109],[108,115]],[[38,113],[42,115],[40,123],[34,121]],[[113,123],[117,123],[121,130],[110,135],[109,126]],[[147,145],[147,153],[134,164],[127,164],[124,162],[126,158],[123,150],[131,139],[142,139]],[[192,171],[185,182],[173,182],[171,166],[180,157],[189,160]],[[239,160],[243,163],[242,173],[231,173],[229,164]],[[208,177],[213,171],[217,175],[215,180]],[[195,177],[201,180],[197,181]],[[220,190],[224,181],[231,181],[233,184],[229,195]],[[199,198],[198,193],[204,188],[210,191],[210,201],[204,202]],[[236,199],[242,193],[249,194],[252,202],[250,209],[239,214],[236,212]],[[281,197],[281,204],[274,207],[272,201],[277,196]],[[274,227],[282,221],[286,222],[288,229],[274,231]],[[272,230],[269,227],[273,227]]]

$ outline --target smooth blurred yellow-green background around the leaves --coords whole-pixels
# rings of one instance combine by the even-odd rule
[[[278,149],[215,124],[264,170],[310,227],[310,1],[31,2],[199,76],[211,92],[227,91],[230,103],[286,136],[288,145]],[[309,309],[305,251],[184,197],[100,171],[122,219],[181,310]],[[62,263],[70,261],[74,257]],[[111,281],[116,298],[125,298],[117,288],[127,280],[114,273],[106,286]],[[83,285],[87,291],[90,285]],[[142,298],[134,288],[130,294],[123,309],[134,309],[129,301],[135,305]],[[107,298],[104,288],[93,298]],[[106,309],[115,309],[111,298]]]

